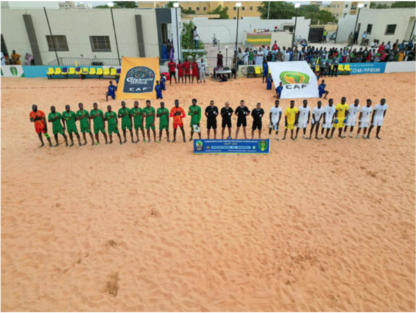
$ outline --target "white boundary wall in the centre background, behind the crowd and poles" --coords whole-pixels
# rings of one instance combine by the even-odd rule
[[[223,44],[235,43],[237,32],[237,21],[230,19],[206,19],[196,17],[193,20],[199,31],[199,37],[204,43],[213,42],[213,37],[219,38]],[[240,19],[238,22],[238,42],[242,43],[244,31],[253,33],[254,29],[278,29],[283,30],[284,25],[294,25],[294,18],[290,19],[260,19],[258,17]],[[308,38],[310,19],[304,17],[297,18],[296,36]]]

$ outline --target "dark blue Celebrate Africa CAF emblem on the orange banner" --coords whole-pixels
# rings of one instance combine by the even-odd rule
[[[155,72],[149,67],[133,67],[124,78],[123,92],[127,94],[141,94],[153,92]]]

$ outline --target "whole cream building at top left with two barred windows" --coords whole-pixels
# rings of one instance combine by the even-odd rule
[[[181,10],[170,8],[113,10],[119,57],[163,58],[163,44],[172,40],[178,58],[176,34],[181,31],[176,32],[176,17],[180,18],[180,14]],[[53,37],[43,9],[3,8],[1,51],[10,54],[16,50],[22,56],[31,53],[35,65],[48,65],[56,60],[56,53],[58,58],[118,62],[109,9],[47,10],[47,15]]]

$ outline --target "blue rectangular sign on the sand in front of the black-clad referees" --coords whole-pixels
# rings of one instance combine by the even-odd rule
[[[269,139],[194,139],[195,154],[269,154]]]

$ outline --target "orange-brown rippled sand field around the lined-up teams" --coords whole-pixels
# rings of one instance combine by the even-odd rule
[[[273,139],[269,155],[193,155],[165,136],[38,149],[33,103],[106,112],[107,83],[1,79],[3,311],[415,311],[414,74],[326,78],[335,104],[387,99],[381,140]],[[238,78],[167,85],[164,101],[244,99],[268,115],[273,94]]]

